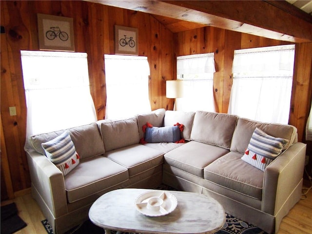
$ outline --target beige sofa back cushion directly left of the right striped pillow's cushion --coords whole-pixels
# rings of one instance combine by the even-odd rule
[[[191,139],[230,149],[237,117],[205,111],[196,111]]]

